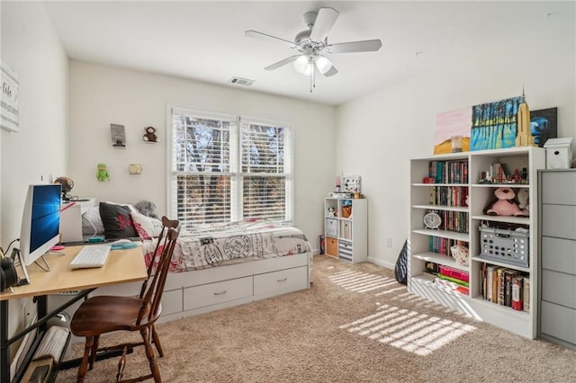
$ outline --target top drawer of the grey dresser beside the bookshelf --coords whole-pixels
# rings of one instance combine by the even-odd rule
[[[576,205],[576,171],[542,173],[542,203]]]

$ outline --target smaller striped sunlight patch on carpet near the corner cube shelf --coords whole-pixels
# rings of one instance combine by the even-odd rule
[[[392,293],[398,289],[406,289],[405,287],[399,288],[398,282],[392,278],[386,278],[382,275],[368,274],[366,272],[336,272],[329,276],[329,280],[344,289],[355,292],[371,292],[385,289],[384,291],[376,293],[376,295]]]

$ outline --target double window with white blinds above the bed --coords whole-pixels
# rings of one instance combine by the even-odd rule
[[[172,217],[185,226],[291,220],[291,138],[280,123],[174,109]]]

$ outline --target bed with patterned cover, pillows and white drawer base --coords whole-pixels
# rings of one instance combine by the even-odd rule
[[[115,229],[124,230],[130,218],[141,239],[148,265],[156,246],[155,237],[161,228],[159,221],[142,216],[130,205],[107,203],[103,209],[102,204],[98,210],[102,215],[94,211],[86,212],[86,217],[83,215],[83,223],[93,221],[83,225],[85,235],[94,236],[98,230],[110,234],[113,225],[108,218],[111,217],[121,221]],[[108,209],[112,209],[111,214]],[[98,218],[102,219],[102,224]],[[133,237],[133,233],[116,230],[112,236]],[[252,220],[183,227],[166,280],[159,320],[192,316],[308,289],[311,259],[311,245],[306,236],[289,224]],[[97,292],[132,294],[139,286],[139,283],[133,283]]]

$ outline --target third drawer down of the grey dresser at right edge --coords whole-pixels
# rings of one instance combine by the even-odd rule
[[[576,241],[543,236],[541,254],[544,269],[576,275]]]

